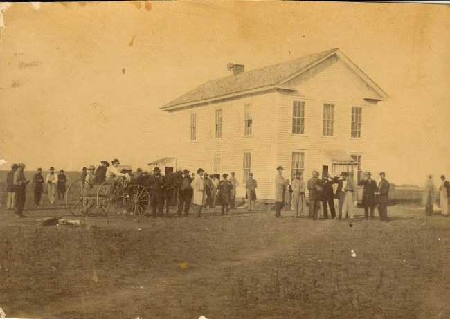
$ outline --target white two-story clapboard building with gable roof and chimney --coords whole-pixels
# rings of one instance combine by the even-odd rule
[[[313,170],[370,170],[375,113],[388,95],[338,48],[211,80],[161,107],[177,123],[177,169],[235,172],[244,197],[250,172],[260,199],[273,199],[276,167],[291,180]],[[360,194],[361,196],[361,194]]]

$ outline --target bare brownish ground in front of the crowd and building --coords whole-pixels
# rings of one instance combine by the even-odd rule
[[[82,219],[0,212],[0,307],[24,318],[450,318],[450,218],[283,212]],[[354,250],[356,257],[352,257]]]

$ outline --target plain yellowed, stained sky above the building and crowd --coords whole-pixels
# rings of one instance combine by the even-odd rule
[[[214,78],[339,48],[381,86],[377,167],[450,175],[450,6],[117,1],[15,3],[0,30],[0,160],[80,170],[173,154],[163,104]]]

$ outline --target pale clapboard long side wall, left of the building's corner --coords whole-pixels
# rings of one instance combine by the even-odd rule
[[[245,197],[244,152],[251,153],[251,172],[258,181],[258,197],[271,199],[276,165],[276,116],[278,93],[251,95],[171,113],[179,123],[176,141],[178,169],[213,173],[214,154],[221,154],[220,172],[236,173],[237,197]],[[251,103],[252,135],[244,136],[244,105]],[[222,138],[215,138],[215,110],[222,108]],[[197,140],[190,142],[190,113],[197,114]]]

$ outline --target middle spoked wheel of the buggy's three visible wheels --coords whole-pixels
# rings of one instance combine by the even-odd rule
[[[97,192],[97,204],[102,215],[116,217],[123,213],[125,206],[125,190],[116,181],[105,181]]]

